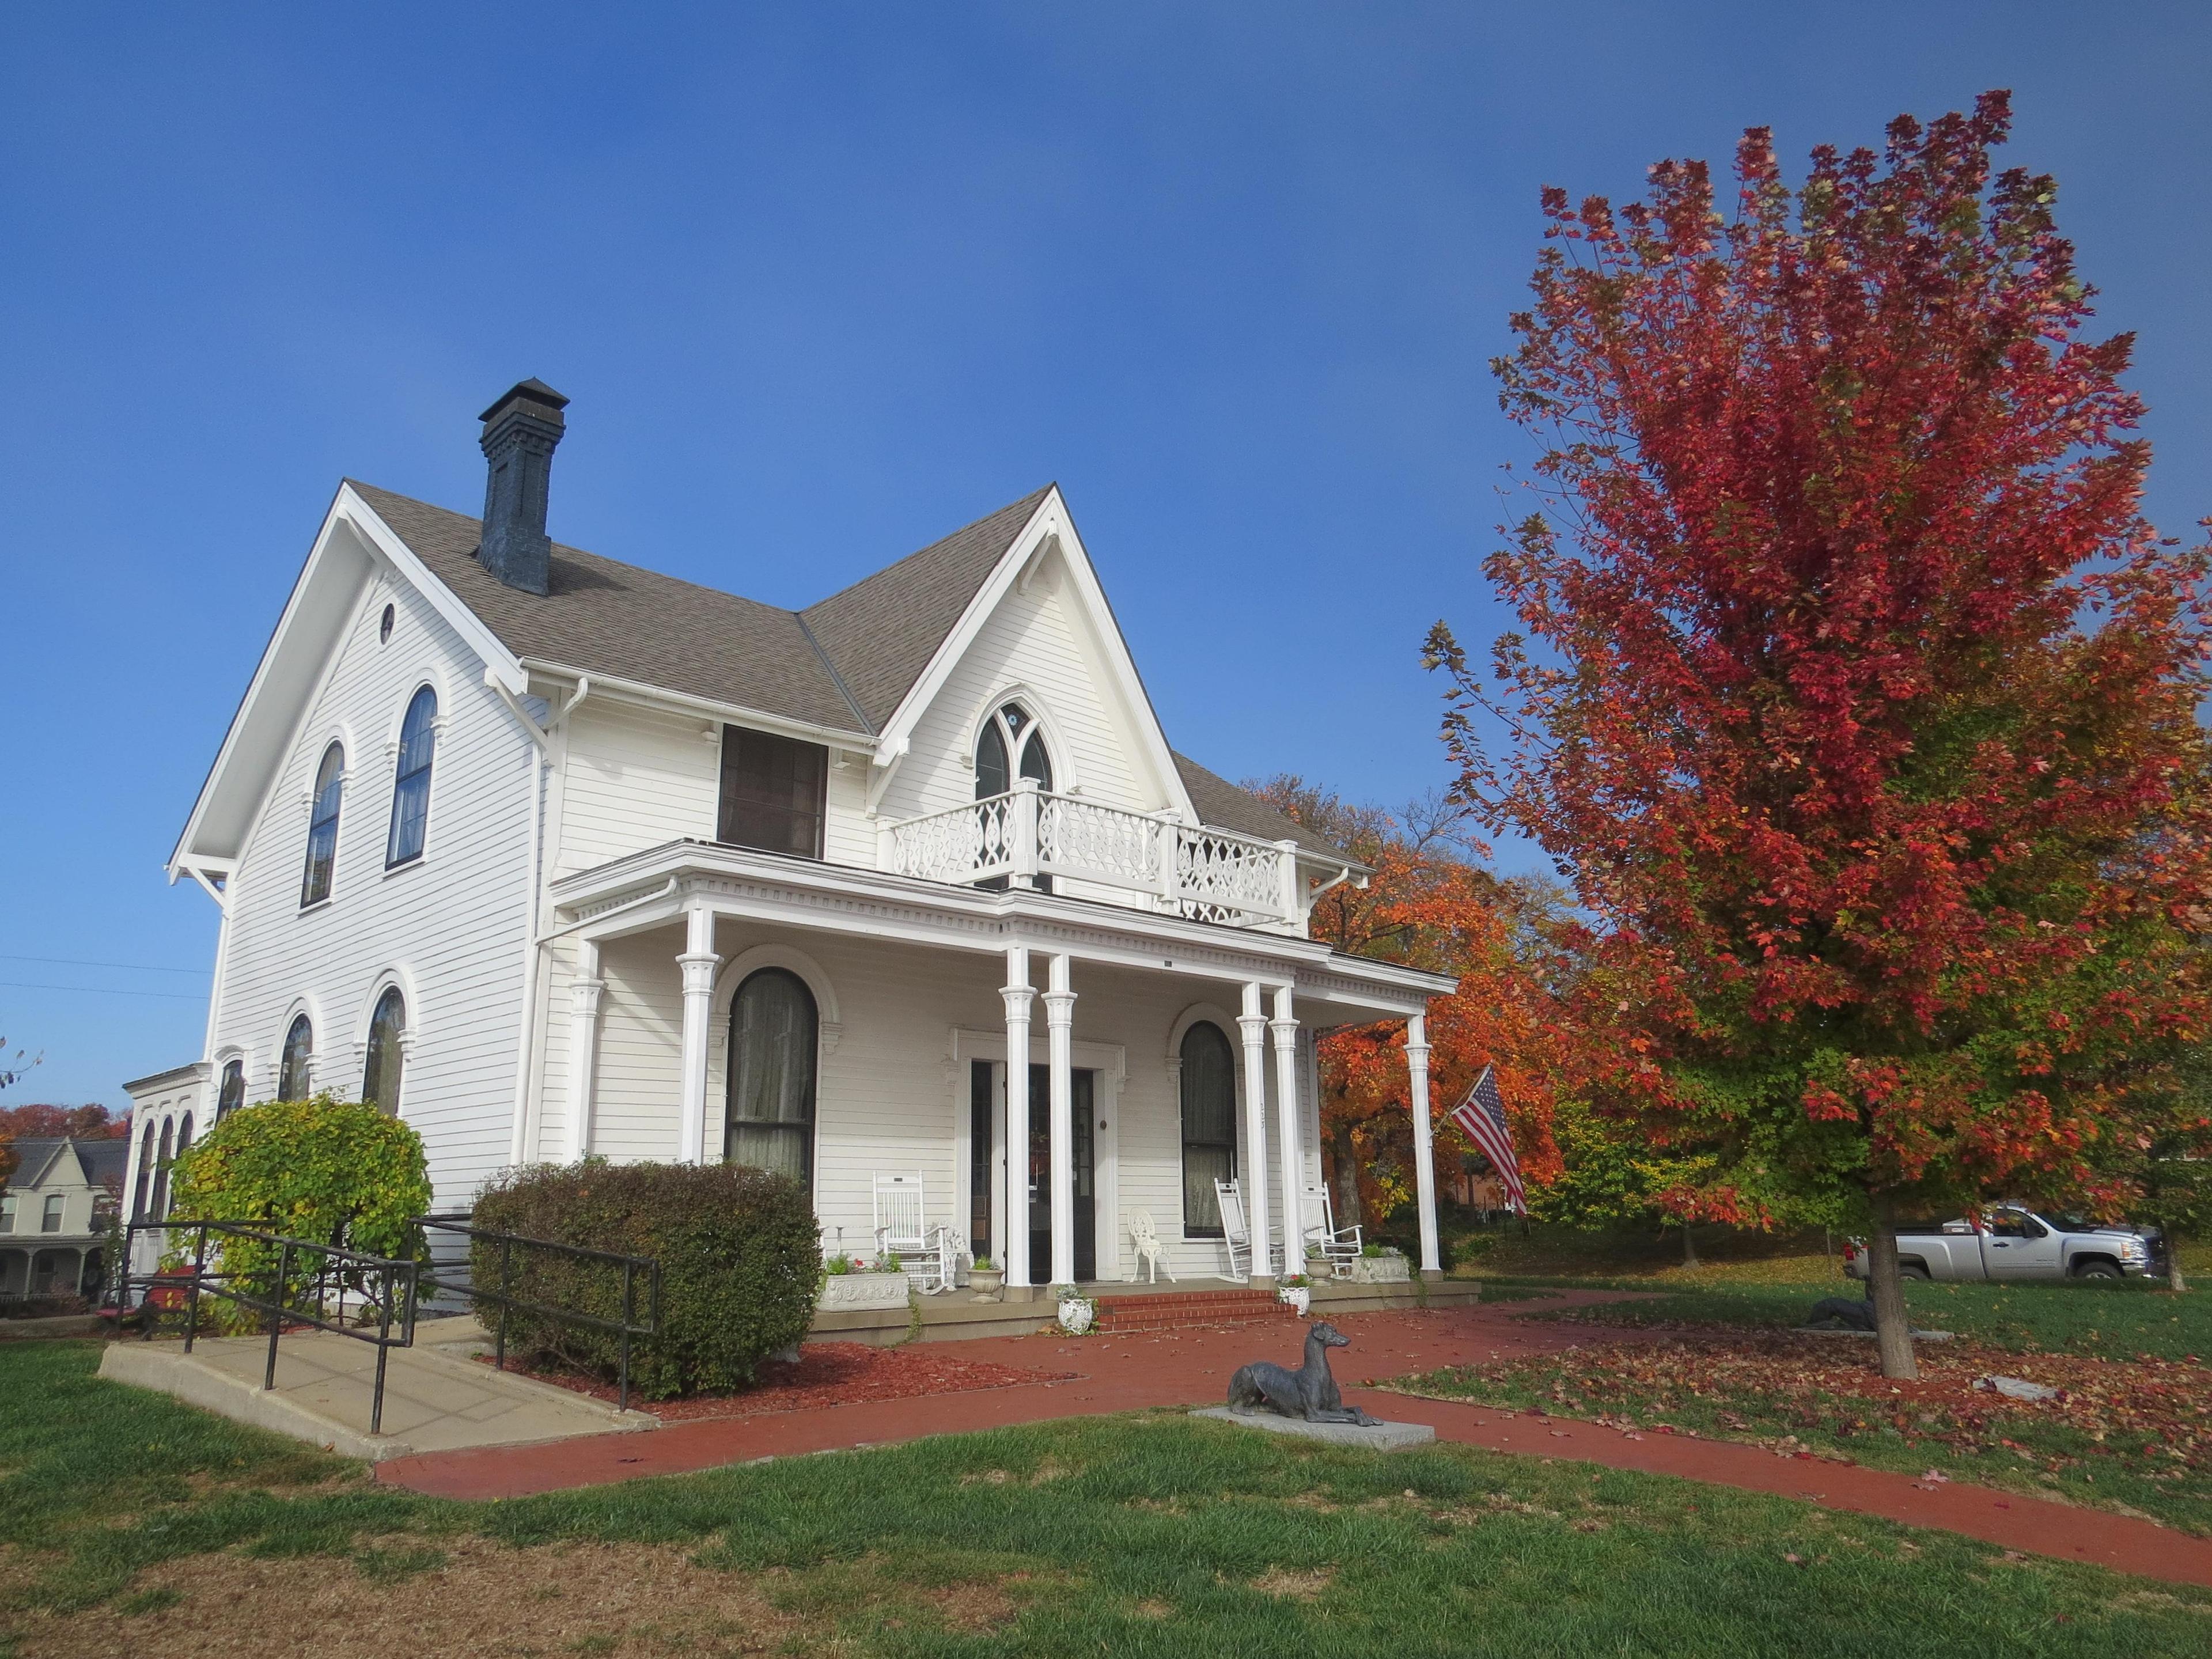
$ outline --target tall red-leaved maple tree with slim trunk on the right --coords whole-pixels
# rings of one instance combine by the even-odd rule
[[[1526,635],[1495,695],[1429,646],[1462,796],[1601,920],[1593,1097],[1717,1152],[1701,1214],[1867,1223],[1891,1376],[1896,1206],[2124,1201],[2208,1020],[2208,560],[2139,511],[2132,341],[2006,128],[1900,117],[1794,192],[1754,128],[1732,219],[1697,161],[1546,190],[1495,365]]]

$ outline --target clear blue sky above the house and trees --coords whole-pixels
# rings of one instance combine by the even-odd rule
[[[1498,628],[1542,184],[2011,86],[2179,533],[2205,64],[2201,0],[11,7],[7,1099],[199,1055],[215,911],[161,858],[319,515],[341,473],[476,511],[526,374],[575,400],[555,535],[776,604],[1057,478],[1181,748],[1402,801],[1422,633]]]

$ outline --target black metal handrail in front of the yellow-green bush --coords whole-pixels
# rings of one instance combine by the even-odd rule
[[[133,1245],[142,1232],[184,1232],[190,1230],[192,1239],[192,1267],[190,1276],[181,1270],[157,1267],[150,1274],[139,1274],[131,1270],[137,1252]],[[232,1281],[252,1283],[254,1274],[246,1272],[223,1272],[217,1267],[208,1272],[208,1234],[217,1239],[241,1239],[248,1243],[272,1245],[276,1250],[276,1292],[274,1296],[254,1296],[252,1290],[241,1290]],[[166,1254],[166,1241],[164,1241]],[[316,1261],[314,1279],[314,1310],[296,1307],[285,1296],[285,1287],[292,1283],[292,1263],[301,1254],[312,1254]],[[221,1261],[221,1259],[217,1259]],[[257,1270],[265,1274],[268,1270]],[[122,1261],[122,1283],[117,1287],[117,1307],[131,1305],[131,1287],[142,1290],[164,1287],[177,1290],[179,1279],[186,1292],[186,1316],[184,1316],[184,1352],[192,1352],[192,1338],[199,1334],[199,1298],[219,1296],[221,1301],[237,1303],[239,1307],[250,1307],[268,1318],[270,1327],[270,1356],[261,1371],[261,1391],[268,1394],[276,1387],[276,1338],[283,1327],[290,1325],[312,1325],[334,1336],[352,1336],[356,1343],[372,1343],[376,1347],[376,1389],[369,1396],[369,1433],[385,1431],[385,1360],[394,1347],[409,1347],[414,1343],[414,1318],[416,1318],[416,1290],[420,1281],[422,1265],[416,1261],[398,1261],[394,1256],[372,1256],[365,1250],[347,1250],[345,1245],[316,1243],[314,1239],[285,1239],[279,1232],[263,1232],[261,1228],[248,1225],[243,1221],[133,1221],[124,1230],[124,1261]],[[338,1279],[338,1318],[325,1318],[323,1310],[330,1303],[332,1276]],[[378,1294],[369,1292],[369,1283],[378,1281]],[[352,1290],[365,1303],[376,1307],[376,1332],[372,1334],[363,1325],[347,1325],[345,1314],[345,1292]],[[398,1318],[398,1332],[394,1334],[392,1323]],[[146,1321],[148,1336],[153,1334],[153,1316]]]

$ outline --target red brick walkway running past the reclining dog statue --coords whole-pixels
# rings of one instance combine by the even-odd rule
[[[1606,1301],[1568,1292],[1571,1301]],[[1352,1314],[1338,1321],[1352,1347],[1332,1354],[1345,1398],[1398,1422],[1427,1422],[1440,1440],[1493,1451],[1641,1469],[1745,1491],[1801,1498],[1825,1509],[1938,1526],[2033,1555],[2093,1562],[2121,1573],[2212,1586],[2212,1540],[2174,1533],[2126,1515],[2090,1515],[2042,1498],[1953,1482],[1922,1491],[1907,1475],[1856,1464],[1776,1458],[1759,1447],[1688,1436],[1630,1440],[1593,1422],[1511,1416],[1489,1407],[1413,1400],[1356,1387],[1360,1378],[1402,1376],[1480,1358],[1575,1347],[1586,1332],[1520,1321],[1524,1303],[1407,1314]],[[1250,1358],[1298,1360],[1294,1327],[1194,1329],[1093,1336],[1082,1343],[1015,1336],[962,1343],[962,1356],[1037,1371],[1077,1371],[1068,1383],[1031,1383],[973,1394],[869,1400],[759,1418],[672,1422],[653,1433],[611,1433],[542,1447],[487,1447],[396,1458],[376,1478],[445,1498],[520,1498],[637,1475],[675,1475],[803,1451],[889,1444],[931,1433],[1002,1429],[1048,1418],[1104,1416],[1166,1405],[1212,1405],[1230,1371]],[[1632,1334],[1606,1332],[1606,1340]]]

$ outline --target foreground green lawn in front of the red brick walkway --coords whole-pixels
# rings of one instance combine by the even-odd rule
[[[0,1349],[0,1628],[51,1635],[55,1608],[137,1635],[232,1617],[195,1610],[192,1577],[164,1566],[208,1551],[347,1559],[431,1606],[480,1535],[533,1584],[557,1559],[540,1555],[577,1542],[670,1546],[688,1582],[770,1586],[792,1652],[2110,1659],[2201,1655],[2212,1630],[2199,1590],[1787,1500],[1464,1447],[1347,1453],[1179,1413],[438,1502],[100,1383],[95,1358]],[[1002,1617],[951,1621],[960,1586],[989,1586]],[[568,1650],[679,1648],[606,1630]]]

